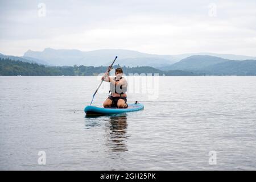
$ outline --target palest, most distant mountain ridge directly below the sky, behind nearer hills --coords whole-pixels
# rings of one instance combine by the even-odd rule
[[[230,60],[246,60],[255,59],[256,57],[217,54],[217,53],[187,53],[181,55],[156,55],[142,53],[138,51],[130,51],[126,49],[99,49],[95,51],[79,51],[77,49],[52,49],[46,48],[43,51],[28,50],[24,53],[23,58],[28,60],[40,60],[49,65],[88,65],[101,66],[109,65],[115,56],[118,56],[118,64],[129,67],[151,66],[151,67],[166,67],[177,63],[178,61],[194,55],[209,55],[221,57]]]

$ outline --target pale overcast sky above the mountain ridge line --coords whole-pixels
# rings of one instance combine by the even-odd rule
[[[47,47],[256,56],[256,1],[0,0],[0,53]]]

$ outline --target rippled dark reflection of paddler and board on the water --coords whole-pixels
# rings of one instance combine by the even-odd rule
[[[85,129],[90,129],[92,127],[102,125],[102,121],[106,126],[104,129],[106,131],[105,140],[106,146],[110,148],[113,152],[127,151],[127,115],[115,114],[107,116],[86,116],[87,120],[85,122]],[[98,118],[98,119],[96,119]]]

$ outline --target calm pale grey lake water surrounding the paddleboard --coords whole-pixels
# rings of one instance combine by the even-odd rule
[[[256,169],[256,77],[159,77],[155,98],[128,93],[144,110],[85,117],[99,82],[0,77],[0,169]]]

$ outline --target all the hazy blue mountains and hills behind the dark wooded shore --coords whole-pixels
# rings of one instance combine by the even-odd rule
[[[187,53],[181,55],[156,55],[126,49],[100,49],[79,51],[77,49],[28,50],[22,57],[0,54],[28,63],[56,66],[108,66],[118,55],[117,64],[126,67],[153,67],[161,71],[186,71],[203,75],[256,75],[256,57],[217,54]]]

